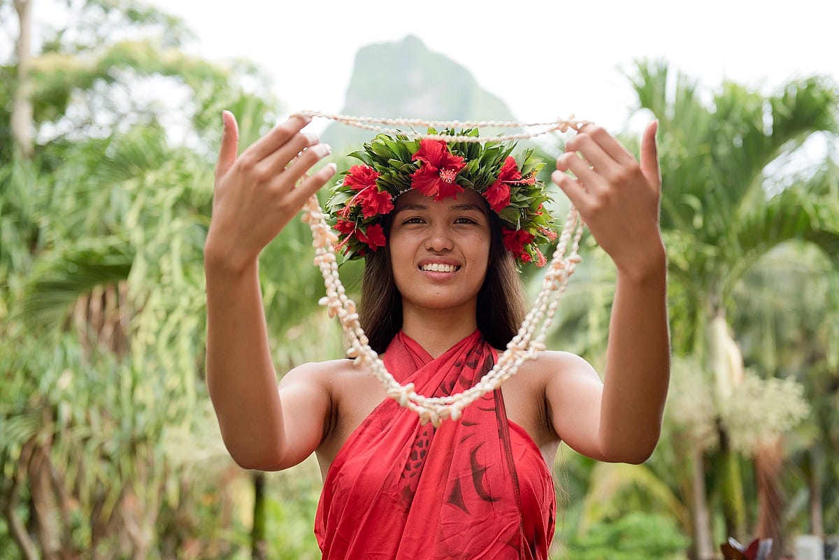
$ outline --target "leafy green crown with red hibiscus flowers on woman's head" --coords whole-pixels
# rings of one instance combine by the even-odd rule
[[[429,134],[436,134],[429,128]],[[442,132],[477,137],[477,128]],[[343,172],[326,202],[331,226],[338,234],[336,249],[347,259],[362,257],[385,245],[382,218],[409,189],[434,200],[456,197],[463,189],[481,194],[502,222],[503,243],[519,264],[545,265],[539,244],[556,239],[553,216],[543,205],[550,200],[545,184],[536,179],[545,162],[528,149],[517,162],[515,143],[453,142],[409,139],[379,134],[364,149],[349,154],[362,161]]]

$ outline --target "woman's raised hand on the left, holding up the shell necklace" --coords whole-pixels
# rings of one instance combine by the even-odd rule
[[[221,120],[224,132],[204,252],[208,264],[239,272],[256,262],[263,247],[326,184],[336,167],[330,163],[297,185],[330,153],[329,145],[321,144],[315,134],[300,132],[310,118],[289,118],[238,157],[236,118],[224,111]]]

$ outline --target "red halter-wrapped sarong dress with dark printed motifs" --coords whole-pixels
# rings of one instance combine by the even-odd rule
[[[400,332],[383,360],[440,397],[474,386],[497,357],[479,331],[436,359]],[[546,559],[555,512],[550,469],[500,389],[440,428],[388,398],[331,464],[315,536],[325,560]]]

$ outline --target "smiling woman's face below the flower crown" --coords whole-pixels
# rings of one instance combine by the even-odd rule
[[[480,194],[466,189],[456,200],[435,202],[409,190],[396,201],[388,244],[403,306],[474,309],[490,244],[487,205]]]

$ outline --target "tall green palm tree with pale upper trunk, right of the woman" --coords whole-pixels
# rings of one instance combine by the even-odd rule
[[[674,303],[675,350],[697,355],[711,369],[717,407],[737,391],[743,358],[732,336],[732,309],[744,275],[774,247],[806,241],[839,254],[835,204],[821,204],[813,180],[785,185],[770,164],[795,153],[816,132],[836,132],[835,86],[818,78],[790,82],[762,96],[725,83],[707,105],[684,75],[671,87],[665,65],[638,63],[633,87],[639,106],[660,119],[666,178],[661,226],[667,238]],[[729,534],[743,537],[740,462],[720,422],[719,465]],[[700,464],[697,463],[697,468]],[[694,474],[702,476],[701,471]],[[706,497],[694,496],[696,506]],[[697,539],[701,557],[708,536]]]

